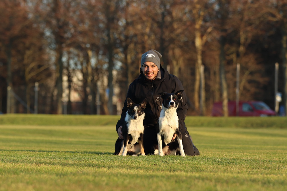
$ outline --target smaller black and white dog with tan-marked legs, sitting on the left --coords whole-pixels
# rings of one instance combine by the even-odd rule
[[[127,98],[128,110],[125,116],[125,124],[122,127],[123,139],[117,139],[115,144],[115,155],[141,155],[145,156],[143,136],[144,136],[144,109],[146,99],[140,104],[135,104]],[[137,143],[138,141],[138,143]]]

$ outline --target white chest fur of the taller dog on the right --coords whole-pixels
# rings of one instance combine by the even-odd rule
[[[164,136],[164,143],[167,145],[172,140],[175,130],[179,128],[177,108],[167,109],[163,107],[158,123],[159,133]]]

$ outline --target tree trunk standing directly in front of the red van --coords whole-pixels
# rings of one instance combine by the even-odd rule
[[[227,82],[225,76],[225,37],[220,37],[220,80],[221,80],[221,88],[222,88],[222,109],[224,117],[228,117],[228,89]]]

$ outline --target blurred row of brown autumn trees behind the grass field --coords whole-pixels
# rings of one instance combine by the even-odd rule
[[[10,113],[33,113],[38,82],[38,113],[116,114],[150,49],[183,83],[189,115],[236,99],[237,64],[240,99],[274,108],[278,62],[286,106],[287,0],[1,0],[0,13],[3,113],[8,86]]]

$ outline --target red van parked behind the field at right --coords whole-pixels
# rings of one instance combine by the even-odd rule
[[[213,104],[212,116],[223,116],[222,102]],[[240,101],[238,116],[275,116],[276,112],[262,101]],[[236,116],[236,101],[228,102],[228,116]]]

